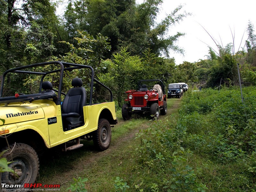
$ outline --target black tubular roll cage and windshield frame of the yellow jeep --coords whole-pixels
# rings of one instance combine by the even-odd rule
[[[55,65],[55,66],[59,66],[59,69],[56,70],[51,70],[51,71],[47,71],[47,72],[36,72],[36,71],[29,71],[29,68],[35,68],[38,66],[46,66],[46,65]],[[40,80],[40,86],[39,86],[39,93],[41,93],[42,90],[42,83],[44,81],[44,77],[46,75],[49,75],[51,73],[55,73],[55,72],[60,72],[60,81],[59,81],[59,88],[58,88],[58,94],[57,94],[57,105],[60,105],[61,103],[61,88],[62,88],[62,82],[63,82],[63,74],[65,70],[73,70],[73,69],[79,69],[79,68],[89,68],[91,70],[91,83],[90,83],[90,100],[89,100],[89,105],[92,105],[92,93],[93,93],[93,85],[94,82],[96,82],[97,84],[99,84],[100,86],[102,86],[103,88],[107,89],[110,93],[110,101],[113,101],[113,94],[112,91],[104,84],[102,84],[101,82],[99,82],[97,79],[94,78],[94,70],[91,66],[88,65],[80,65],[80,64],[75,64],[75,63],[66,63],[66,62],[60,62],[60,61],[50,61],[50,62],[43,62],[43,63],[36,63],[36,64],[31,64],[31,65],[27,65],[27,66],[22,66],[22,67],[17,67],[17,68],[12,68],[12,69],[8,69],[3,73],[2,79],[1,79],[1,86],[0,86],[0,103],[9,103],[10,102],[10,97],[2,97],[3,95],[3,88],[4,88],[4,80],[5,80],[5,76],[8,73],[25,73],[25,74],[35,74],[35,75],[41,75],[41,80]],[[24,70],[26,69],[26,70]],[[29,94],[28,94],[29,95]],[[30,95],[34,95],[34,94],[30,94]],[[46,94],[45,96],[47,96],[49,94]],[[21,95],[22,96],[22,95]],[[12,98],[14,96],[11,96]],[[21,97],[22,98],[22,97]],[[40,99],[42,99],[43,97],[40,97]],[[24,98],[26,100],[26,98]],[[28,100],[28,98],[27,98]],[[13,101],[15,102],[19,102],[19,99],[13,99]]]

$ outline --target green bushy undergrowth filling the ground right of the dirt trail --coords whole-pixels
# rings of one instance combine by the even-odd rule
[[[239,88],[186,92],[175,127],[158,120],[137,134],[139,165],[161,191],[255,191],[255,90],[244,102]]]

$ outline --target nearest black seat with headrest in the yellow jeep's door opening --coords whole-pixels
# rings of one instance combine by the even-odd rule
[[[86,90],[80,78],[72,80],[73,88],[69,89],[62,102],[63,130],[68,131],[84,124],[83,107],[86,102]]]

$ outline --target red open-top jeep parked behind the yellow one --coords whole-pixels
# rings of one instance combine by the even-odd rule
[[[138,91],[129,90],[125,93],[127,93],[125,101],[128,101],[128,103],[125,103],[122,107],[124,120],[130,119],[132,114],[149,113],[157,119],[160,115],[159,112],[161,115],[166,115],[167,103],[163,80],[139,80]]]

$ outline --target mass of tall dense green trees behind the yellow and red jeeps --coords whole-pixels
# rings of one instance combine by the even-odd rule
[[[189,13],[182,13],[178,6],[157,23],[161,4],[162,0],[142,4],[135,0],[71,0],[57,16],[57,3],[50,0],[3,0],[0,73],[49,60],[90,65],[95,77],[114,90],[114,99],[121,106],[121,92],[134,89],[138,79],[160,78],[167,84],[174,77],[175,60],[169,58],[169,50],[182,52],[175,42],[184,34],[169,36],[167,32]],[[73,77],[71,74],[70,79]],[[21,79],[17,77],[10,85],[11,92],[17,85],[30,88]]]

